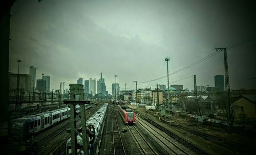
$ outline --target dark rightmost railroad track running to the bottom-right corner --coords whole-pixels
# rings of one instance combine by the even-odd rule
[[[168,123],[164,120],[161,120],[162,122],[165,122],[165,123]],[[169,123],[168,123],[169,124]],[[207,139],[209,141],[212,141],[218,145],[221,145],[221,146],[225,146],[231,150],[236,150],[240,153],[245,153],[245,154],[253,154],[253,152],[251,151],[252,148],[249,148],[248,146],[245,146],[243,144],[240,144],[240,143],[236,143],[236,142],[232,142],[232,141],[229,141],[227,139],[223,139],[223,138],[220,138],[220,137],[217,137],[217,136],[214,136],[214,135],[209,135],[209,134],[206,134],[206,133],[202,133],[202,132],[199,132],[199,131],[195,131],[195,130],[191,130],[185,126],[181,126],[181,125],[176,125],[176,124],[170,124],[172,126],[175,126],[177,128],[181,128],[182,130],[185,130],[189,133],[192,133],[194,135],[197,135],[197,136],[200,136],[200,137],[203,137],[204,139]]]

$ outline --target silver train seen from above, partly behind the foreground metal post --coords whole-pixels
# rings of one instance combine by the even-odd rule
[[[87,126],[90,127],[89,130],[94,133],[94,136],[92,138],[88,137],[89,147],[88,147],[88,154],[98,154],[99,146],[101,142],[101,135],[103,132],[104,122],[106,119],[106,110],[108,109],[109,104],[105,103],[101,108],[95,112],[88,120],[87,120]],[[93,130],[92,130],[93,128]],[[82,138],[77,135],[77,142],[78,145],[82,146]],[[77,152],[79,149],[77,149]],[[66,142],[66,154],[72,154],[71,149],[71,138],[68,139]],[[84,154],[83,151],[81,151],[81,154]]]

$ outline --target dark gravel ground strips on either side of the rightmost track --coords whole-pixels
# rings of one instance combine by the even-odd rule
[[[135,107],[132,107],[132,108],[135,109]],[[138,110],[143,113],[145,112],[145,109],[138,109]],[[199,136],[193,135],[191,133],[188,133],[184,130],[181,130],[180,128],[176,128],[176,127],[170,126],[166,123],[162,123],[159,121],[159,117],[154,115],[153,113],[147,112],[147,114],[145,114],[145,115],[147,115],[147,117],[150,117],[157,123],[161,124],[162,126],[166,127],[169,131],[172,131],[172,132],[176,133],[177,135],[183,137],[184,139],[190,141],[191,143],[197,145],[199,148],[205,150],[209,154],[239,154],[236,150],[230,150],[226,147],[222,147],[222,146],[220,146],[214,142],[211,142],[209,140],[206,140],[202,137],[199,137]],[[193,128],[195,130],[198,130],[200,132],[204,132],[204,133],[207,133],[210,135],[214,135],[214,136],[218,135],[220,138],[225,138],[225,139],[233,141],[233,142],[243,143],[244,145],[254,146],[254,148],[255,148],[256,140],[253,137],[245,137],[245,136],[241,136],[238,134],[227,134],[227,132],[221,130],[220,128],[202,125],[200,123],[194,123],[194,122],[191,122],[184,118],[172,118],[171,120],[175,124]]]

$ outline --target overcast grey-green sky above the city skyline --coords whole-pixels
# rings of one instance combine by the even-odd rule
[[[50,75],[50,89],[98,80],[100,72],[109,93],[115,74],[120,90],[135,89],[134,81],[153,89],[167,85],[165,57],[172,73],[251,38],[227,49],[228,71],[231,89],[256,89],[255,1],[19,0],[11,15],[9,71],[17,73],[20,59],[20,73],[38,67],[36,79]],[[194,74],[198,86],[214,86],[214,75],[224,75],[223,52],[169,75],[169,85],[193,90]]]

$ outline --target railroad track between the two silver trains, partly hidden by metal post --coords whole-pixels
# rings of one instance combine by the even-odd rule
[[[94,107],[94,108],[91,108],[89,109],[89,111],[86,112],[86,116],[87,116],[87,119],[88,120],[97,110],[98,110],[98,106]],[[77,121],[78,122],[78,121]],[[81,126],[81,123],[77,123],[77,126],[78,128]],[[69,127],[69,126],[68,126]],[[67,128],[68,128],[67,127]],[[56,137],[56,136],[55,136]],[[53,138],[55,138],[53,137]],[[66,142],[67,140],[70,138],[70,136],[68,136],[67,138],[63,139],[61,141],[61,143],[58,145],[58,147],[56,147],[50,154],[51,155],[59,155],[59,154],[65,154],[65,149],[66,149]]]

